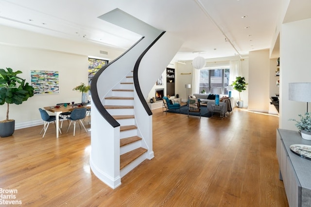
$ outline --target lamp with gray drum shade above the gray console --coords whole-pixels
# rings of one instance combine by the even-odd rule
[[[292,101],[311,102],[311,83],[289,83],[288,99]]]

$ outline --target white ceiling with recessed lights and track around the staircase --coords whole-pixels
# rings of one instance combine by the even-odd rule
[[[245,57],[271,47],[281,1],[0,0],[0,24],[124,49],[140,36],[98,18],[120,8],[181,38],[175,61],[192,60],[194,51],[205,58]]]

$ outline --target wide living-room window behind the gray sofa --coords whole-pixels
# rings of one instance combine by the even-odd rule
[[[229,66],[218,69],[200,70],[200,90],[206,93],[212,93],[213,88],[221,88],[224,94],[227,94],[226,87],[229,84]]]

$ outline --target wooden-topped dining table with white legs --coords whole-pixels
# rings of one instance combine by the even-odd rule
[[[73,104],[73,105],[68,105],[68,106],[63,106],[63,105],[59,105],[59,106],[46,106],[44,107],[44,109],[46,111],[51,111],[54,112],[55,114],[55,122],[56,122],[56,138],[58,138],[58,128],[59,128],[59,115],[63,112],[68,112],[68,111],[73,111],[74,109],[78,109],[78,108],[87,108],[90,109],[91,108],[91,104],[85,104],[85,105],[81,105],[81,104]]]

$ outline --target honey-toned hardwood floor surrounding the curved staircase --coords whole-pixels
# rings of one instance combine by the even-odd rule
[[[90,171],[90,132],[79,127],[75,137],[64,122],[59,139],[53,125],[44,139],[42,126],[0,138],[0,188],[17,190],[15,199],[0,199],[31,207],[288,206],[278,179],[278,117],[234,109],[223,120],[200,119],[156,109],[153,121],[155,158],[115,190]]]

